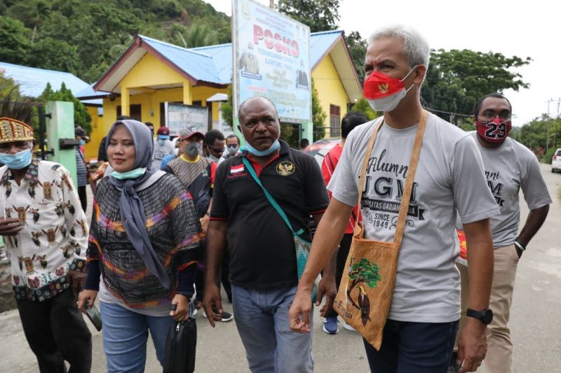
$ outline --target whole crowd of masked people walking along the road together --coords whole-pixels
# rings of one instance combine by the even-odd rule
[[[148,334],[163,365],[168,331],[198,312],[235,320],[251,372],[313,372],[322,302],[323,332],[342,319],[360,333],[372,372],[511,372],[516,267],[551,199],[508,137],[502,94],[480,97],[473,132],[422,108],[429,53],[417,31],[372,34],[364,95],[383,115],[347,113],[321,167],[280,139],[275,103],[252,97],[238,108],[243,146],[120,117],[91,174],[76,127],[74,188],[64,165],[32,156],[33,111],[4,101],[0,235],[39,370],[90,372],[81,312],[97,300],[107,372],[143,372]]]

